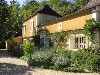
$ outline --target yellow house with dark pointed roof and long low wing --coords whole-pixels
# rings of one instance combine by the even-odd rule
[[[83,30],[86,20],[94,18],[100,21],[100,0],[90,0],[83,8],[66,16],[61,16],[48,5],[38,10],[23,24],[23,44],[34,36],[39,35],[40,44],[49,48],[51,35],[55,32]],[[100,34],[96,32],[95,39],[100,41]],[[68,49],[77,50],[88,48],[91,42],[82,33],[71,34],[66,41]]]

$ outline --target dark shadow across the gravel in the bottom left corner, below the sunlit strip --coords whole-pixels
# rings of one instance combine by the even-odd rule
[[[23,65],[0,63],[0,75],[31,75],[32,68]]]

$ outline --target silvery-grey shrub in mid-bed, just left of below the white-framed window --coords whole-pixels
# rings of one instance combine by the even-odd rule
[[[52,61],[55,66],[69,67],[71,65],[71,53],[69,51],[57,51]]]

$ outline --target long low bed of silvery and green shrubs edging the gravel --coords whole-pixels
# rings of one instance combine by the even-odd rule
[[[27,56],[22,57],[26,60]],[[32,54],[34,67],[61,70],[66,72],[99,72],[100,52],[96,50],[82,49],[69,51],[62,49],[36,50]]]

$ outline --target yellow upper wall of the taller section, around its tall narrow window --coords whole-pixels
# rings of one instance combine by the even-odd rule
[[[33,29],[33,32],[30,32],[30,20],[33,19],[34,21],[34,29]],[[26,32],[25,34],[23,34],[23,38],[25,37],[30,37],[30,36],[33,36],[35,35],[35,31],[36,31],[36,16],[32,17],[31,19],[27,20],[24,24],[26,26]]]

